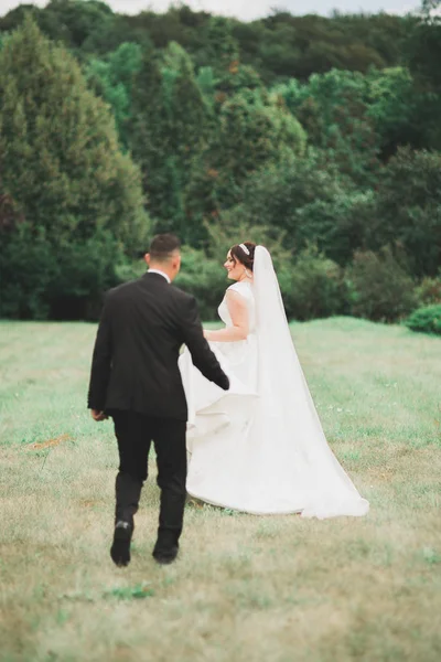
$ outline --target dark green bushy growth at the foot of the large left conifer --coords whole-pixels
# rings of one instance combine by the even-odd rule
[[[121,246],[108,234],[54,246],[26,223],[3,235],[0,248],[0,317],[97,319],[101,295],[120,282]]]

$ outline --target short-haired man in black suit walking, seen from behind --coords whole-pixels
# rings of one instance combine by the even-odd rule
[[[110,556],[130,563],[133,515],[138,511],[148,457],[154,442],[161,489],[153,557],[178,555],[185,505],[187,406],[178,366],[186,344],[193,363],[225,391],[229,387],[204,339],[195,299],[171,286],[181,267],[180,242],[158,235],[146,255],[149,270],[106,295],[95,343],[88,407],[96,421],[111,416],[119,449],[116,516]]]

